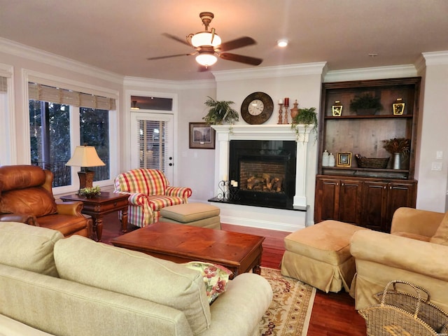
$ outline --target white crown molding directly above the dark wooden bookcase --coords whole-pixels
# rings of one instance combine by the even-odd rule
[[[417,76],[414,64],[398,66],[375,66],[372,68],[360,68],[349,70],[328,71],[323,78],[325,83],[342,82],[346,80],[365,80],[381,78],[400,78]]]

